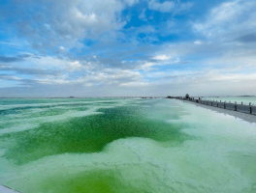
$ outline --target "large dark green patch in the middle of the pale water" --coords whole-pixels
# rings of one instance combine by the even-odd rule
[[[66,122],[41,124],[38,128],[6,134],[15,143],[6,157],[24,164],[44,156],[65,152],[101,152],[114,140],[128,137],[150,138],[159,142],[182,143],[189,139],[182,126],[147,119],[136,107],[101,109],[103,114],[74,118]]]

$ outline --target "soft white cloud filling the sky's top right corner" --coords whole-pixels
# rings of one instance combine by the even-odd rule
[[[204,22],[193,24],[196,32],[210,39],[233,41],[255,32],[256,1],[233,0],[213,8]]]

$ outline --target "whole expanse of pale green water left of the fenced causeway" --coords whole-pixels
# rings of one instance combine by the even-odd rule
[[[0,183],[37,192],[256,192],[256,125],[171,99],[0,99]]]

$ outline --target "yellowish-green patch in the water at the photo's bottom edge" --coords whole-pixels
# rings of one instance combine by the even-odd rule
[[[144,174],[138,179],[133,179],[127,171],[136,170],[143,172],[137,167],[121,167],[114,169],[100,169],[80,172],[76,174],[58,174],[48,176],[45,179],[29,180],[30,185],[22,185],[22,181],[16,184],[16,188],[26,193],[143,193],[152,189],[150,179],[144,180]],[[123,176],[124,175],[124,176]],[[139,176],[140,177],[140,176]],[[146,178],[147,179],[147,178]],[[157,179],[157,177],[151,178]]]

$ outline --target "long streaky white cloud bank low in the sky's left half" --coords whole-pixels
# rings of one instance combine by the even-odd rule
[[[22,67],[21,69],[19,67]],[[139,71],[133,69],[112,69],[103,66],[99,61],[77,61],[60,59],[49,56],[30,57],[21,62],[14,62],[9,71],[16,71],[19,75],[23,72],[29,74],[26,78],[10,75],[2,75],[0,79],[25,82],[26,85],[36,83],[43,85],[122,85],[144,82]]]

